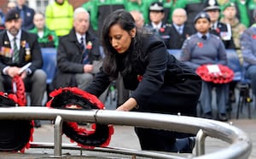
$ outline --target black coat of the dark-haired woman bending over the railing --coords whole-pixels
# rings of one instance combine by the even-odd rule
[[[164,43],[154,36],[144,37],[142,41],[142,51],[148,54],[148,60],[131,61],[131,72],[122,75],[125,88],[133,90],[131,97],[137,100],[139,111],[195,115],[201,78],[189,66],[168,54]],[[132,54],[130,50],[125,54]],[[119,70],[122,71],[123,67],[125,65],[119,65]],[[110,83],[102,70],[86,88],[96,96],[102,94]],[[139,80],[141,76],[142,81]]]

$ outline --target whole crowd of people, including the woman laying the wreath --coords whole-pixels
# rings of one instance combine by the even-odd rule
[[[221,4],[221,5],[220,5]],[[51,88],[78,87],[101,97],[113,81],[126,95],[117,111],[182,113],[227,121],[227,103],[236,83],[201,79],[201,65],[227,65],[226,49],[236,49],[256,95],[256,2],[253,0],[90,0],[77,9],[55,0],[45,13],[26,0],[8,3],[0,33],[0,91],[15,76],[42,105],[46,73],[40,48],[57,50]],[[180,49],[177,60],[167,52]],[[31,63],[25,71],[20,69]],[[218,116],[212,111],[216,88]],[[228,93],[227,93],[228,92]],[[196,114],[201,104],[202,114]],[[39,121],[36,127],[40,127]],[[191,152],[192,134],[135,128],[143,150]]]

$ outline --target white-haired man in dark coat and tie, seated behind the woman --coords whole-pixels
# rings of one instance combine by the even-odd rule
[[[88,29],[90,14],[83,8],[75,9],[73,29],[61,37],[57,50],[58,70],[54,88],[78,87],[84,89],[99,70],[102,54],[98,38]]]

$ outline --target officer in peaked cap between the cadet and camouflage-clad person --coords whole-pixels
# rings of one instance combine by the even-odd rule
[[[208,0],[204,11],[209,14],[211,19],[212,26],[210,28],[210,33],[220,37],[225,48],[235,49],[236,47],[232,38],[231,26],[218,21],[220,14],[218,2],[216,0]]]

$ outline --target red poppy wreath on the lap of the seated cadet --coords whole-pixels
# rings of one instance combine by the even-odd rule
[[[211,66],[218,68],[218,71],[210,71]],[[196,69],[196,73],[202,80],[218,84],[231,82],[234,78],[234,71],[225,65],[201,65]]]

